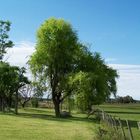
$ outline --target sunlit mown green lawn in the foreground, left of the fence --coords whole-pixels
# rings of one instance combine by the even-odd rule
[[[28,108],[0,113],[0,140],[93,140],[98,126],[84,114],[58,119],[52,110]]]

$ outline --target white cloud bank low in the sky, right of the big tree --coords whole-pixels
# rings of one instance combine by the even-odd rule
[[[140,65],[109,64],[118,70],[118,95],[140,99]]]

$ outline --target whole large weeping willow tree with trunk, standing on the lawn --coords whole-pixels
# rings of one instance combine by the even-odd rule
[[[116,71],[79,43],[77,33],[63,19],[51,18],[40,26],[29,65],[34,80],[47,83],[51,90],[56,117],[60,117],[60,104],[72,94],[80,105],[82,100],[88,104],[89,98],[94,103],[97,98],[103,101],[116,92]]]

